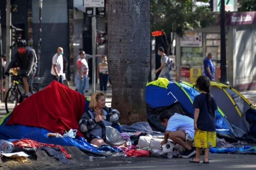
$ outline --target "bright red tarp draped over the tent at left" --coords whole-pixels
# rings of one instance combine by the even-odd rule
[[[31,95],[14,108],[6,125],[45,128],[54,133],[77,129],[85,111],[85,96],[53,80],[46,88]]]

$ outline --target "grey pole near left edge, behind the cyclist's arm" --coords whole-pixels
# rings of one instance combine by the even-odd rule
[[[11,62],[11,0],[6,0],[6,65],[5,67],[8,67],[8,65]],[[5,77],[5,91],[10,88],[11,83],[11,77],[6,76]]]

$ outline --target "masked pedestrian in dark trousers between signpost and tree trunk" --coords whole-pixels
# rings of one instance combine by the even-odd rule
[[[106,94],[107,92],[107,84],[108,84],[108,62],[107,62],[107,56],[102,57],[102,62],[99,63],[99,66],[97,68],[97,78],[100,80],[100,89]]]

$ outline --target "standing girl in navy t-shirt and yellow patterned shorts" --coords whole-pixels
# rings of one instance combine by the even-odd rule
[[[196,87],[201,91],[193,102],[196,158],[190,162],[199,163],[201,148],[204,148],[203,163],[209,164],[209,147],[216,145],[215,111],[218,108],[214,96],[210,94],[210,80],[207,76],[199,76]]]

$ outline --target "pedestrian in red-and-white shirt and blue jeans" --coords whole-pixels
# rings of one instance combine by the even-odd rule
[[[88,78],[88,63],[85,59],[85,51],[80,51],[79,55],[80,58],[77,60],[77,75],[79,76],[76,76],[76,78],[79,78],[78,92],[84,94]]]

